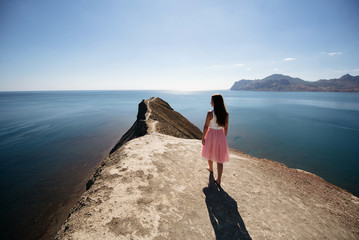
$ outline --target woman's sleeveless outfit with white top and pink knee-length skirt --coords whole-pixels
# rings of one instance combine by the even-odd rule
[[[204,137],[205,144],[202,146],[202,157],[218,163],[229,161],[227,138],[224,128],[217,123],[216,115],[209,122],[209,129]]]

